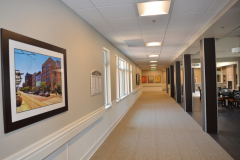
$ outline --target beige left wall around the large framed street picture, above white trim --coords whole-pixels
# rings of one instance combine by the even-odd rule
[[[4,134],[3,131],[1,103],[0,159],[36,143],[104,106],[103,93],[99,96],[90,96],[90,72],[99,70],[103,73],[103,47],[110,50],[111,54],[112,100],[116,99],[115,55],[133,65],[133,88],[138,87],[136,73],[141,73],[141,70],[60,0],[1,0],[0,11],[0,28],[67,50],[69,102],[69,111],[9,134]],[[0,101],[2,102],[2,91]]]

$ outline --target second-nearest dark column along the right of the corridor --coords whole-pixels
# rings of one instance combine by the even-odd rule
[[[192,112],[192,60],[190,54],[183,55],[184,73],[184,102],[186,112]]]

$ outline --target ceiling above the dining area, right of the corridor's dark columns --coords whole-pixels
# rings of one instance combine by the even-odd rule
[[[233,54],[231,48],[240,47],[240,1],[237,1],[227,10],[212,26],[199,38],[186,48],[174,61],[182,61],[182,54],[193,54],[192,59],[200,60],[200,40],[202,38],[216,38],[216,57],[233,58],[240,57],[240,54]],[[197,61],[198,62],[198,61]]]

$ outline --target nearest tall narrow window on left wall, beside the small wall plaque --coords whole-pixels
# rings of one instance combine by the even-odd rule
[[[103,49],[105,106],[111,105],[110,51]]]

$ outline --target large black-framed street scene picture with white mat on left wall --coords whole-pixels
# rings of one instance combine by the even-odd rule
[[[1,29],[4,132],[68,110],[66,50]]]

